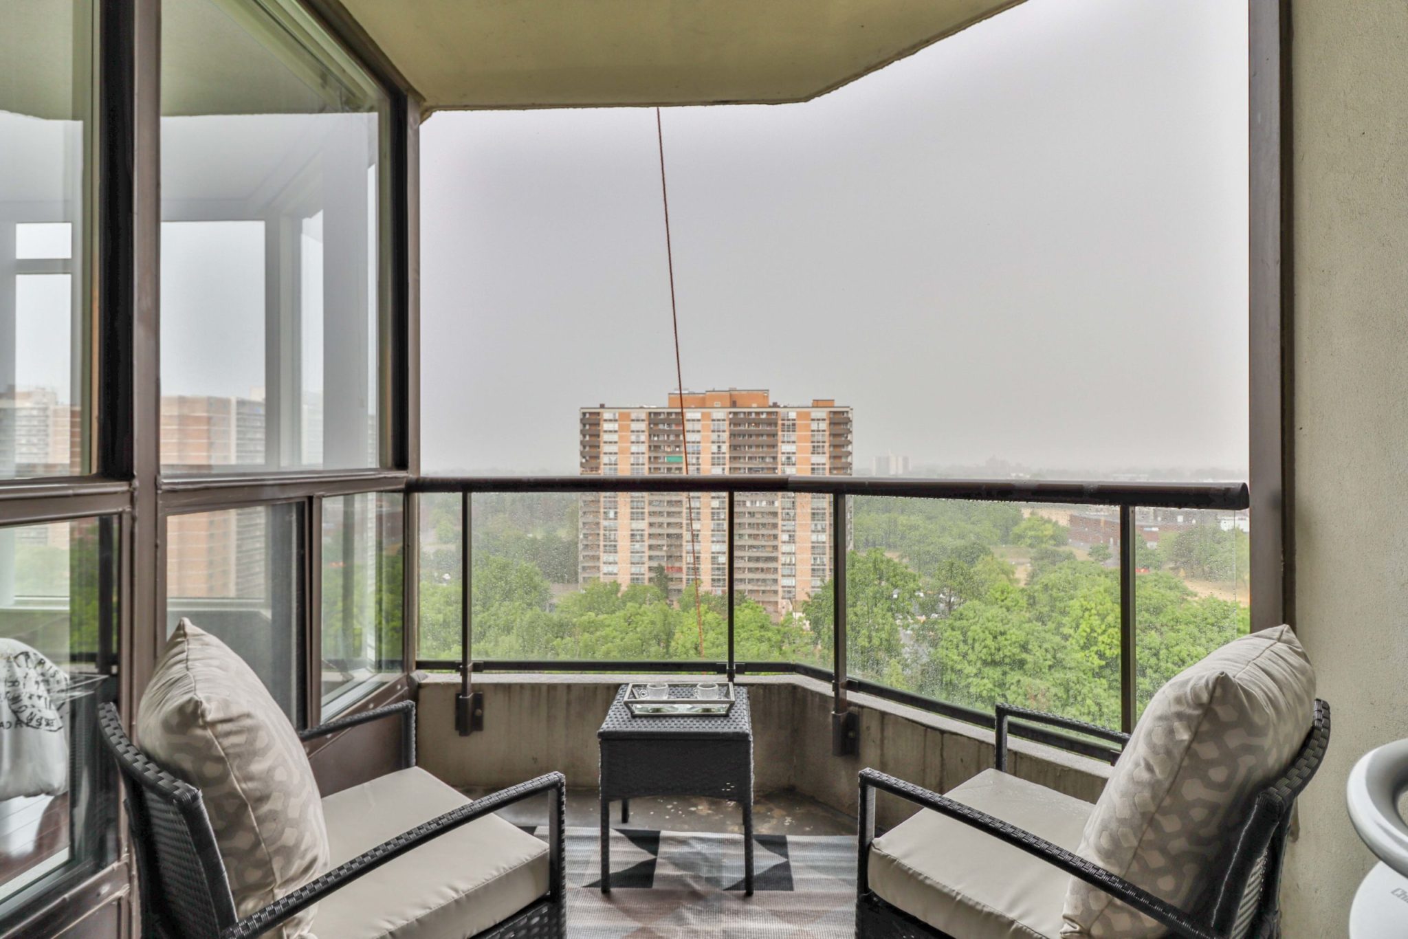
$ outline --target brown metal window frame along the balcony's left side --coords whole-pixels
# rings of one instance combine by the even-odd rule
[[[249,0],[263,6],[265,0]],[[159,398],[159,266],[161,266],[161,0],[94,0],[92,118],[87,163],[83,175],[83,255],[68,265],[86,277],[84,296],[93,301],[83,311],[89,331],[84,355],[83,474],[0,480],[0,525],[25,525],[89,517],[115,519],[115,572],[111,624],[117,645],[115,698],[131,728],[137,701],[145,687],[165,635],[163,528],[173,514],[218,511],[249,505],[301,501],[300,532],[304,584],[300,641],[315,648],[317,562],[321,539],[314,519],[321,498],[363,491],[403,491],[413,469],[414,401],[417,390],[417,311],[410,272],[414,269],[415,141],[420,104],[408,83],[384,62],[359,52],[356,34],[338,21],[329,4],[291,0],[317,24],[328,41],[358,63],[390,103],[379,134],[377,193],[377,352],[376,410],[380,467],[365,472],[255,470],[234,476],[211,474],[187,481],[163,479],[161,470]],[[338,14],[341,15],[341,14]],[[352,37],[352,41],[349,41]],[[48,265],[49,262],[45,262]],[[407,500],[406,543],[417,538],[414,497]],[[414,660],[414,562],[406,567],[404,655]],[[300,705],[318,715],[314,660],[304,655],[296,664]],[[404,695],[407,677],[391,694]],[[311,691],[308,691],[311,688]],[[382,702],[372,694],[344,712]],[[117,777],[107,760],[103,798],[110,824],[103,828],[108,847],[100,862],[79,869],[59,869],[25,887],[0,914],[0,933],[17,928],[21,935],[54,935],[93,909],[117,901],[117,916],[131,925],[137,904],[121,890],[130,883],[130,852],[122,850],[125,829],[117,821]],[[65,898],[59,898],[65,894]],[[24,925],[21,925],[24,924]]]

